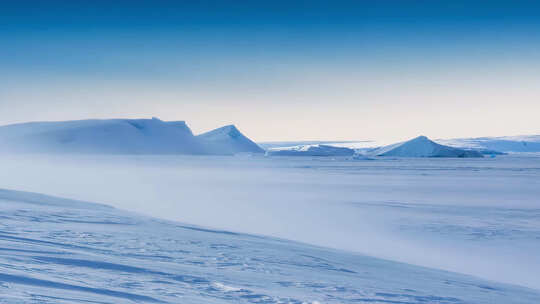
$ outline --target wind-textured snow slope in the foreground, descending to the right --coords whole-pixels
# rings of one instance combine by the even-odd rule
[[[0,303],[538,303],[540,292],[0,191]]]

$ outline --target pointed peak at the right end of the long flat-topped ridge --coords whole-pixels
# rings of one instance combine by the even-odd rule
[[[264,153],[256,143],[234,125],[224,126],[197,136],[208,154]]]

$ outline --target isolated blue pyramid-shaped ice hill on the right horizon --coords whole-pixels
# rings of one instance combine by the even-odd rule
[[[478,151],[440,145],[425,136],[378,148],[370,154],[396,157],[482,157]]]

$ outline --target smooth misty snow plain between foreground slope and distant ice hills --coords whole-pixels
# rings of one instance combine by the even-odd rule
[[[21,155],[0,185],[540,289],[539,163]]]

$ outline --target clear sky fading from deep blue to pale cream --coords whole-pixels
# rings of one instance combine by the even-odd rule
[[[2,1],[0,124],[256,141],[540,134],[537,1]]]

